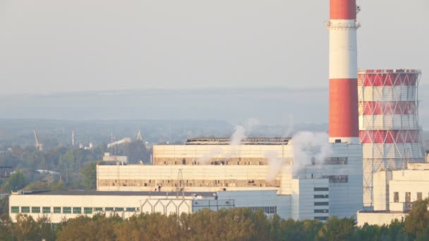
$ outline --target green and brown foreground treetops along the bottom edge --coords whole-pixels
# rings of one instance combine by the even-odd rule
[[[404,222],[357,227],[354,218],[284,220],[250,209],[204,209],[193,214],[140,214],[123,220],[97,214],[51,225],[46,217],[33,220],[18,214],[3,216],[2,240],[429,240],[428,200],[414,204]]]

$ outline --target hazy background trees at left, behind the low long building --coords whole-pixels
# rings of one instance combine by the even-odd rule
[[[0,179],[0,192],[22,189],[28,185],[28,190],[52,190],[62,187],[95,189],[95,180],[85,178],[87,175],[95,178],[95,163],[102,160],[104,152],[126,155],[130,163],[137,163],[140,160],[150,161],[152,150],[147,149],[139,140],[115,149],[107,149],[104,144],[92,149],[53,147],[44,152],[39,152],[35,147],[11,147],[0,156],[0,166],[12,166],[13,171],[21,175],[12,175],[9,178],[12,180]],[[40,173],[36,170],[55,173]]]

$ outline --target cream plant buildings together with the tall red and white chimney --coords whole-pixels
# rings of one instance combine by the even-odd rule
[[[40,215],[40,210],[58,214],[53,221],[85,214],[85,210],[87,215],[116,211],[126,217],[127,209],[129,214],[147,210],[169,215],[195,211],[203,201],[206,204],[200,208],[212,209],[221,200],[228,208],[246,206],[296,220],[356,215],[363,207],[359,9],[356,0],[330,0],[326,23],[330,32],[329,136],[322,136],[323,143],[295,136],[238,141],[201,138],[183,145],[155,145],[153,165],[97,166],[97,192],[12,194],[11,216],[18,212],[33,215],[33,207],[34,215]],[[61,214],[55,213],[60,210]]]

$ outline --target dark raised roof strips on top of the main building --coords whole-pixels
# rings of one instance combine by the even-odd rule
[[[291,138],[281,138],[281,137],[253,137],[253,138],[244,138],[241,140],[240,144],[288,144]],[[190,138],[186,140],[185,144],[231,144],[230,138]]]

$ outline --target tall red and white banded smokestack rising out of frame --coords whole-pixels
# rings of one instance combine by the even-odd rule
[[[356,0],[330,0],[330,142],[359,143]]]

